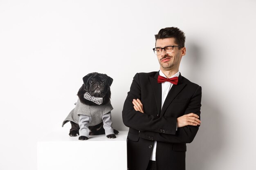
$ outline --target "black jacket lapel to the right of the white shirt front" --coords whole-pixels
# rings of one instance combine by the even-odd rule
[[[161,84],[161,83],[159,83],[159,84]],[[178,84],[177,85],[173,84],[171,90],[169,91],[169,93],[164,101],[160,116],[162,116],[164,114],[164,112],[166,111],[168,106],[171,104],[173,99],[180,93],[180,91],[184,88],[184,86],[186,86],[186,84],[183,83],[183,77],[180,74],[178,77]],[[161,85],[161,87],[162,87],[162,85]],[[162,92],[160,92],[160,93],[161,93],[160,95],[162,97]]]

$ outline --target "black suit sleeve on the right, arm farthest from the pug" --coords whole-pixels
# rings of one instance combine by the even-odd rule
[[[202,88],[198,86],[195,90],[193,97],[187,106],[184,115],[189,113],[195,113],[199,116],[200,119],[200,108],[201,108],[201,97],[202,97]],[[148,139],[148,137],[153,137],[155,141],[169,142],[169,143],[191,143],[195,138],[196,133],[198,132],[199,126],[184,126],[177,128],[175,135],[169,135],[166,133],[157,133],[157,132],[140,132],[139,137]]]

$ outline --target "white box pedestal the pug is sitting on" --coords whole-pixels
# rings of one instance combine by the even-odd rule
[[[119,131],[115,139],[97,135],[80,141],[64,129],[37,143],[38,170],[127,170],[128,131]]]

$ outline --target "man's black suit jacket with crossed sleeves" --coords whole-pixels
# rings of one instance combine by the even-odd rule
[[[198,126],[177,128],[177,117],[189,113],[200,116],[202,88],[180,74],[161,110],[162,84],[157,83],[158,75],[137,73],[124,102],[129,170],[146,170],[154,141],[157,170],[185,170],[186,143],[191,143],[198,131]],[[135,111],[132,99],[141,100],[144,114]]]

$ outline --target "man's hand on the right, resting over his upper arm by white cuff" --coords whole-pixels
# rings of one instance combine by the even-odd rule
[[[187,125],[198,126],[201,123],[201,121],[198,118],[199,116],[194,113],[183,115],[177,118],[177,126],[178,128],[181,128]]]

